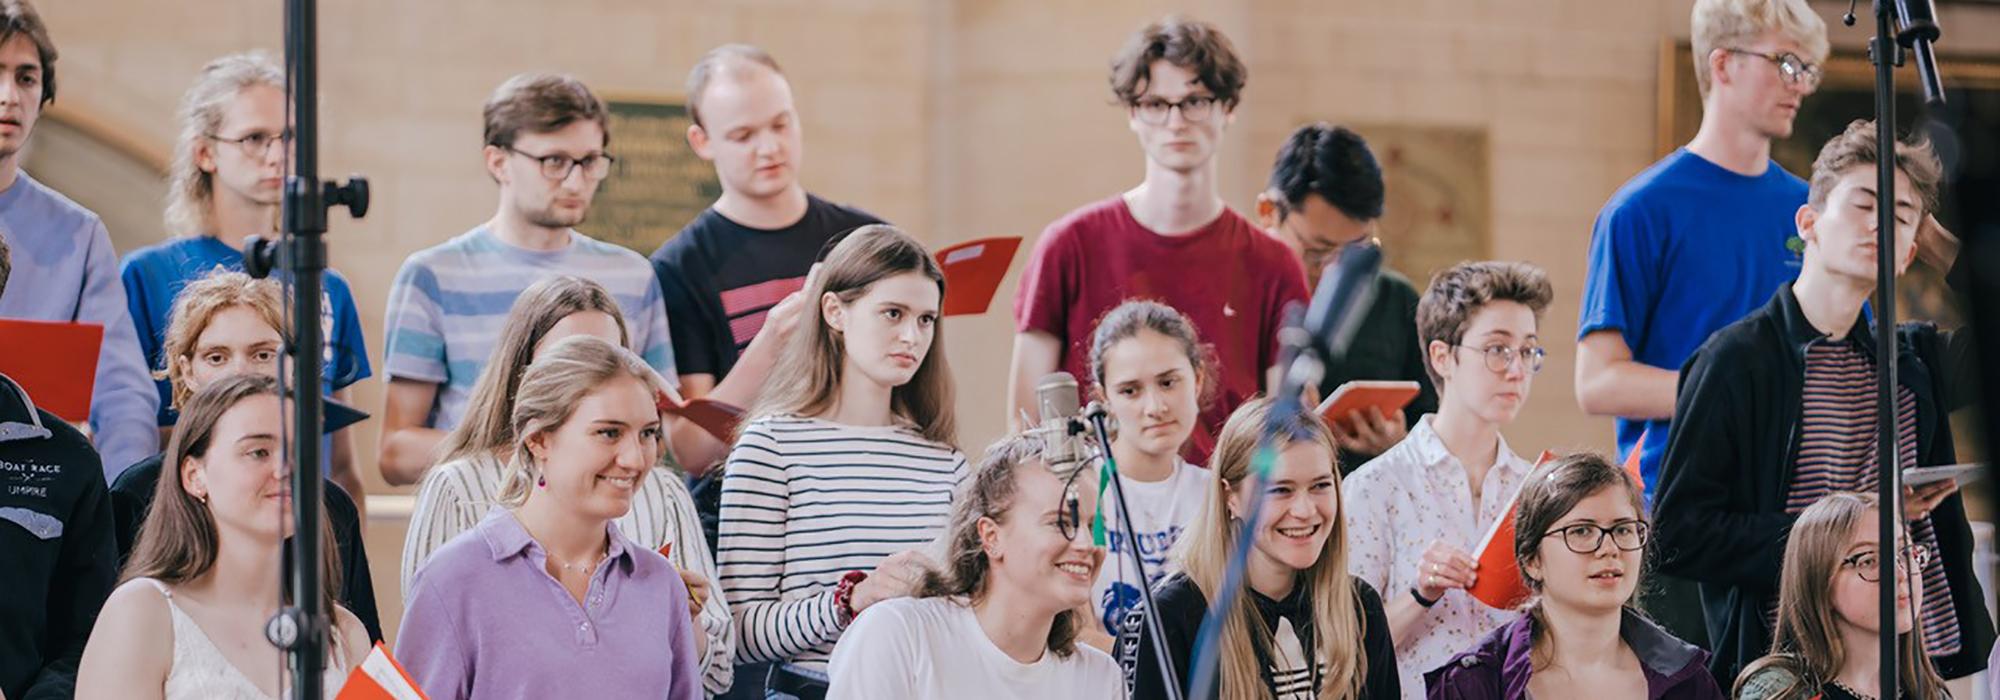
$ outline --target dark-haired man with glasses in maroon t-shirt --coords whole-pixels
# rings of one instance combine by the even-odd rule
[[[1306,276],[1216,188],[1216,144],[1244,78],[1230,40],[1188,18],[1148,24],[1118,52],[1112,92],[1146,150],[1146,180],[1048,224],[1036,242],[1014,296],[1010,420],[1040,420],[1044,374],[1088,376],[1092,328],[1132,298],[1188,314],[1214,348],[1216,386],[1184,448],[1190,462],[1206,462],[1230,410],[1264,390],[1284,306],[1306,300]]]

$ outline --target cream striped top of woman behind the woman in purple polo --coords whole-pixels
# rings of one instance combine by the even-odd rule
[[[402,596],[410,600],[410,582],[430,562],[430,554],[474,530],[492,506],[500,504],[502,464],[492,456],[438,464],[424,474],[410,512],[410,532],[402,540]],[[698,572],[708,580],[708,602],[702,604],[700,632],[708,636],[708,656],[696,668],[702,690],[722,694],[736,680],[730,656],[736,650],[736,628],[730,624],[728,602],[720,594],[716,558],[708,552],[702,522],[694,514],[694,498],[680,474],[654,468],[632,492],[632,510],[616,520],[618,532],[632,544],[660,550],[674,548],[666,560],[682,572]],[[686,610],[686,608],[682,608]]]

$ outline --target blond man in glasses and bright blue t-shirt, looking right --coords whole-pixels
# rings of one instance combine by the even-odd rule
[[[1770,158],[1770,142],[1792,134],[1828,50],[1806,0],[1698,0],[1692,44],[1702,128],[1598,212],[1576,324],[1576,404],[1618,418],[1620,458],[1650,434],[1638,446],[1648,502],[1682,362],[1798,276],[1806,182]],[[1704,644],[1694,586],[1658,580],[1648,612]]]

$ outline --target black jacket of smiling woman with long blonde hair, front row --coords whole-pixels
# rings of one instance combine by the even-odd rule
[[[1250,600],[1256,602],[1256,610],[1264,616],[1264,626],[1268,630],[1278,628],[1278,616],[1292,622],[1294,630],[1310,634],[1312,630],[1312,606],[1310,590],[1304,580],[1292,588],[1292,594],[1284,600],[1270,600],[1256,590],[1244,590]],[[1202,616],[1208,614],[1208,596],[1202,588],[1194,584],[1186,574],[1174,574],[1160,580],[1152,588],[1152,602],[1160,606],[1160,632],[1166,636],[1168,658],[1174,660],[1174,672],[1180,674],[1174,682],[1186,688],[1190,680],[1194,638],[1202,628]],[[1402,678],[1396,674],[1396,644],[1388,636],[1388,618],[1382,614],[1382,596],[1374,592],[1372,586],[1354,578],[1354,610],[1362,618],[1362,650],[1368,654],[1366,678],[1362,680],[1362,694],[1356,700],[1398,700],[1402,698]],[[1156,700],[1166,698],[1166,686],[1160,678],[1158,650],[1152,646],[1152,638],[1146,634],[1144,616],[1148,612],[1144,606],[1134,608],[1126,614],[1122,630],[1118,632],[1118,662],[1124,666],[1126,676],[1126,696],[1134,700]],[[1300,646],[1312,648],[1308,638],[1300,638]],[[1266,668],[1264,684],[1272,684],[1268,668],[1272,668],[1272,658],[1268,648],[1256,648],[1260,666]],[[1276,692],[1276,690],[1272,690]],[[1194,698],[1192,694],[1188,698]]]

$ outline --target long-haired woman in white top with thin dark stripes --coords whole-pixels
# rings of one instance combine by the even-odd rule
[[[722,592],[736,660],[772,698],[820,698],[856,614],[908,596],[966,476],[938,304],[944,274],[892,226],[840,240],[722,480]]]

